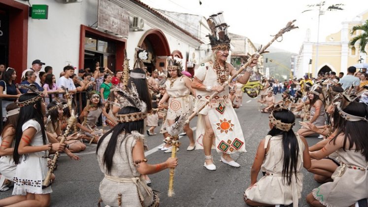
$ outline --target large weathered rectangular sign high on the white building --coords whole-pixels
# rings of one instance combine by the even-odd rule
[[[129,13],[109,0],[99,0],[98,28],[128,37]]]

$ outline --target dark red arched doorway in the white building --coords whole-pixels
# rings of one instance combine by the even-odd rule
[[[166,36],[161,30],[148,30],[140,38],[138,47],[146,50],[147,60],[143,60],[149,72],[155,69],[161,71],[167,66],[167,57],[170,56],[170,48]]]

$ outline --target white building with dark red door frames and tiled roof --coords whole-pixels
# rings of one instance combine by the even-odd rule
[[[72,2],[72,3],[68,3]],[[53,67],[58,77],[66,65],[122,69],[124,49],[133,68],[135,51],[148,52],[148,70],[161,70],[168,57],[183,60],[200,55],[204,42],[139,0],[0,1],[0,63],[22,70],[35,59]],[[36,5],[47,4],[47,19],[29,17]],[[20,75],[18,75],[18,78]],[[19,80],[19,79],[18,79]]]

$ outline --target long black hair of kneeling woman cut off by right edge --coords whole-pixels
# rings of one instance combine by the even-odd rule
[[[354,115],[367,118],[368,109],[367,105],[352,102],[342,111]],[[338,114],[338,112],[337,112]],[[348,121],[341,116],[336,121],[337,133],[336,136],[332,139],[335,141],[339,135],[344,134],[344,144],[342,145],[342,149],[345,151],[346,149],[352,149],[355,146],[355,151],[362,150],[361,154],[366,158],[368,162],[368,122],[361,121]],[[347,140],[349,140],[349,146],[346,145]]]

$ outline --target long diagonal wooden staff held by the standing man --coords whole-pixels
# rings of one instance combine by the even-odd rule
[[[286,32],[289,32],[293,29],[296,29],[298,27],[295,27],[293,25],[293,23],[296,20],[290,21],[286,24],[286,27],[282,28],[276,35],[273,36],[273,38],[271,39],[271,41],[269,41],[265,46],[261,47],[258,49],[258,52],[256,54],[253,54],[252,57],[248,60],[248,62],[246,64],[244,64],[239,70],[236,71],[236,73],[230,77],[230,79],[228,81],[225,81],[225,83],[223,83],[221,86],[222,87],[226,87],[231,80],[233,80],[238,74],[240,74],[241,71],[243,71],[244,69],[246,69],[250,63],[252,63],[254,60],[258,59],[260,57],[261,54],[263,53],[267,53],[266,49],[279,37],[282,37],[282,35]],[[199,107],[195,112],[193,112],[189,117],[188,120],[186,121],[187,123],[189,123],[190,120],[192,120],[215,96],[217,96],[219,94],[219,92],[215,92],[213,93],[207,100],[206,103],[203,104],[201,107]]]

